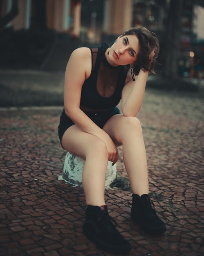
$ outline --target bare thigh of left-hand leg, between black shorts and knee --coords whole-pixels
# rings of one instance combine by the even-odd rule
[[[62,147],[73,155],[86,159],[88,150],[94,145],[104,144],[104,142],[92,134],[82,131],[78,126],[72,125],[62,137]]]

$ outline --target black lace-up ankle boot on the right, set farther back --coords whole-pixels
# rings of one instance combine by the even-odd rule
[[[133,194],[131,219],[151,235],[161,235],[166,231],[166,225],[151,206],[149,195],[144,194],[140,197]]]

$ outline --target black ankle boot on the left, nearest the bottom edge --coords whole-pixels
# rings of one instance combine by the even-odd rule
[[[115,224],[116,222],[108,214],[107,206],[88,205],[83,225],[84,235],[107,251],[127,252],[131,246],[115,228]]]

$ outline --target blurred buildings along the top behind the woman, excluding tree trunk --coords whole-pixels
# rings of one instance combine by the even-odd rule
[[[161,50],[168,43],[164,32],[171,0],[1,0],[0,20],[12,12],[14,2],[18,3],[17,15],[3,29],[54,31],[76,38],[82,45],[99,45],[113,43],[130,27],[145,26],[158,35]],[[190,67],[191,51],[204,52],[204,8],[195,2],[182,1],[181,73]]]

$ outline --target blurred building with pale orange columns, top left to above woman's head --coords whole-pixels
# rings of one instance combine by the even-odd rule
[[[1,17],[12,2],[2,0]],[[18,15],[6,26],[54,29],[99,42],[103,33],[120,34],[132,26],[132,5],[133,0],[18,0]]]

